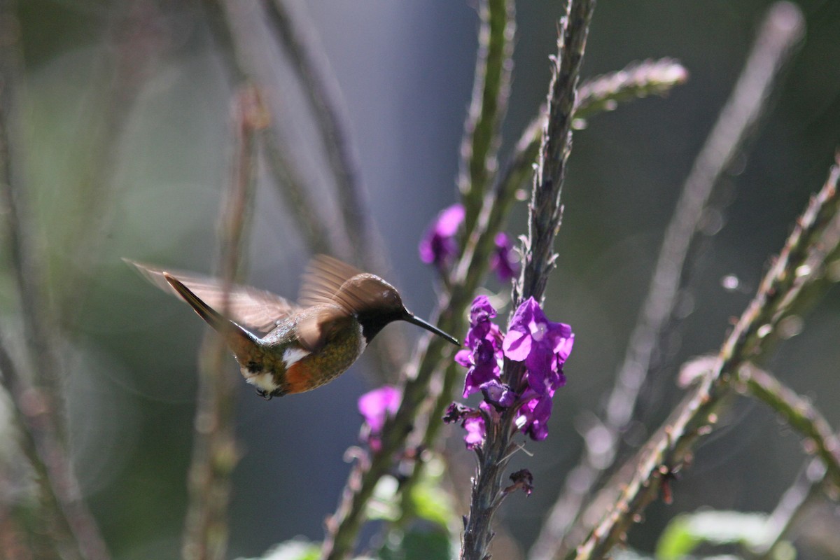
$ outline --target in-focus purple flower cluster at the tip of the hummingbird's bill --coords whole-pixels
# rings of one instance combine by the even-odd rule
[[[484,400],[477,410],[454,404],[444,418],[461,421],[470,448],[484,440],[486,422],[510,407],[517,407],[517,428],[533,440],[545,439],[549,435],[551,400],[554,392],[565,385],[563,364],[575,343],[571,327],[549,321],[533,297],[518,307],[504,335],[491,322],[493,317],[496,310],[487,297],[476,297],[470,310],[467,349],[455,356],[455,361],[467,368],[464,397],[480,392]],[[519,386],[502,382],[504,359],[524,365]]]

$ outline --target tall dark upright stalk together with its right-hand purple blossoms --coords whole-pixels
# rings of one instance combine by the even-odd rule
[[[522,243],[522,273],[513,287],[517,311],[501,347],[505,360],[498,380],[502,389],[499,398],[504,398],[506,385],[521,402],[525,393],[519,391],[532,390],[533,395],[520,406],[508,406],[501,411],[485,406],[484,417],[491,421],[485,419],[485,438],[474,446],[479,465],[473,479],[470,513],[465,517],[463,559],[488,557],[493,536],[491,522],[501,499],[511,489],[523,485],[528,488],[529,477],[521,472],[516,474],[513,484],[502,488],[507,462],[517,448],[512,443],[512,433],[518,427],[526,429],[535,439],[547,434],[545,421],[551,413],[551,396],[561,384],[562,365],[571,350],[573,338],[568,326],[549,322],[537,304],[555,262],[554,238],[562,214],[560,191],[571,151],[575,92],[594,8],[592,0],[572,0],[559,26],[559,52],[554,58],[549,87],[549,116],[534,174],[528,236]],[[494,414],[498,415],[497,421]]]

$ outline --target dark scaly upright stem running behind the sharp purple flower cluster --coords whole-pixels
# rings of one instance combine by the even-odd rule
[[[528,238],[522,251],[524,266],[514,285],[512,309],[528,297],[539,300],[549,271],[554,267],[554,237],[560,224],[560,192],[571,151],[575,90],[594,8],[594,2],[573,1],[567,5],[568,11],[559,25],[559,52],[554,59],[549,86],[549,119],[543,129],[538,170],[533,182]],[[518,387],[521,377],[522,368],[506,361],[502,379],[507,385]],[[490,555],[493,514],[501,501],[502,475],[512,453],[510,440],[515,416],[516,410],[511,407],[501,413],[498,423],[486,421],[487,433],[478,450],[479,467],[473,481],[470,513],[465,518],[462,560],[484,560]]]

